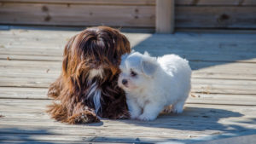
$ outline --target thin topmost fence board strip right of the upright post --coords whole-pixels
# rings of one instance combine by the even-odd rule
[[[256,5],[254,0],[178,0],[177,5],[193,6],[253,6]]]

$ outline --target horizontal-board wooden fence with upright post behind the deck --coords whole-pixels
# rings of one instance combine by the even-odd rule
[[[171,5],[166,5],[167,9],[159,7],[160,11],[155,10],[160,4],[172,4],[168,1],[0,0],[0,24],[104,25],[156,29],[157,26],[167,25],[165,31],[172,31],[172,26],[186,29],[256,28],[256,0],[176,0],[174,14],[172,10],[168,10],[169,7],[172,8]],[[175,20],[172,20],[174,17]],[[172,21],[175,21],[175,25]],[[162,25],[161,22],[166,22],[166,24]]]

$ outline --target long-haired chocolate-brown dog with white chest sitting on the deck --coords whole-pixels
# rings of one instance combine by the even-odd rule
[[[130,52],[127,38],[108,26],[72,37],[65,46],[61,76],[49,86],[54,102],[47,112],[69,124],[130,118],[125,92],[117,84],[121,55]]]

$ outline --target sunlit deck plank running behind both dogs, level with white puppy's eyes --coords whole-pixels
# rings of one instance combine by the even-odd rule
[[[61,64],[60,64],[61,66]],[[235,65],[236,66],[236,65]],[[59,66],[56,66],[59,67]],[[212,66],[209,68],[202,68],[200,70],[196,70],[192,74],[192,78],[208,78],[208,79],[237,79],[237,80],[256,80],[255,71],[253,71],[253,67],[246,67],[242,69],[242,67],[237,68],[234,71],[226,72],[224,68],[228,68],[230,66],[221,66],[216,68],[216,66]],[[231,67],[234,68],[234,67]],[[241,70],[241,73],[239,72]],[[61,73],[60,69],[53,68],[12,68],[5,67],[5,69],[0,69],[0,77],[6,78],[57,78]]]

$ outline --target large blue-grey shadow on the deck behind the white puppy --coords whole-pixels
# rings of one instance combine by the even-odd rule
[[[153,34],[133,49],[153,56],[176,54],[186,58],[193,70],[230,62],[256,61],[256,34],[177,32]]]

